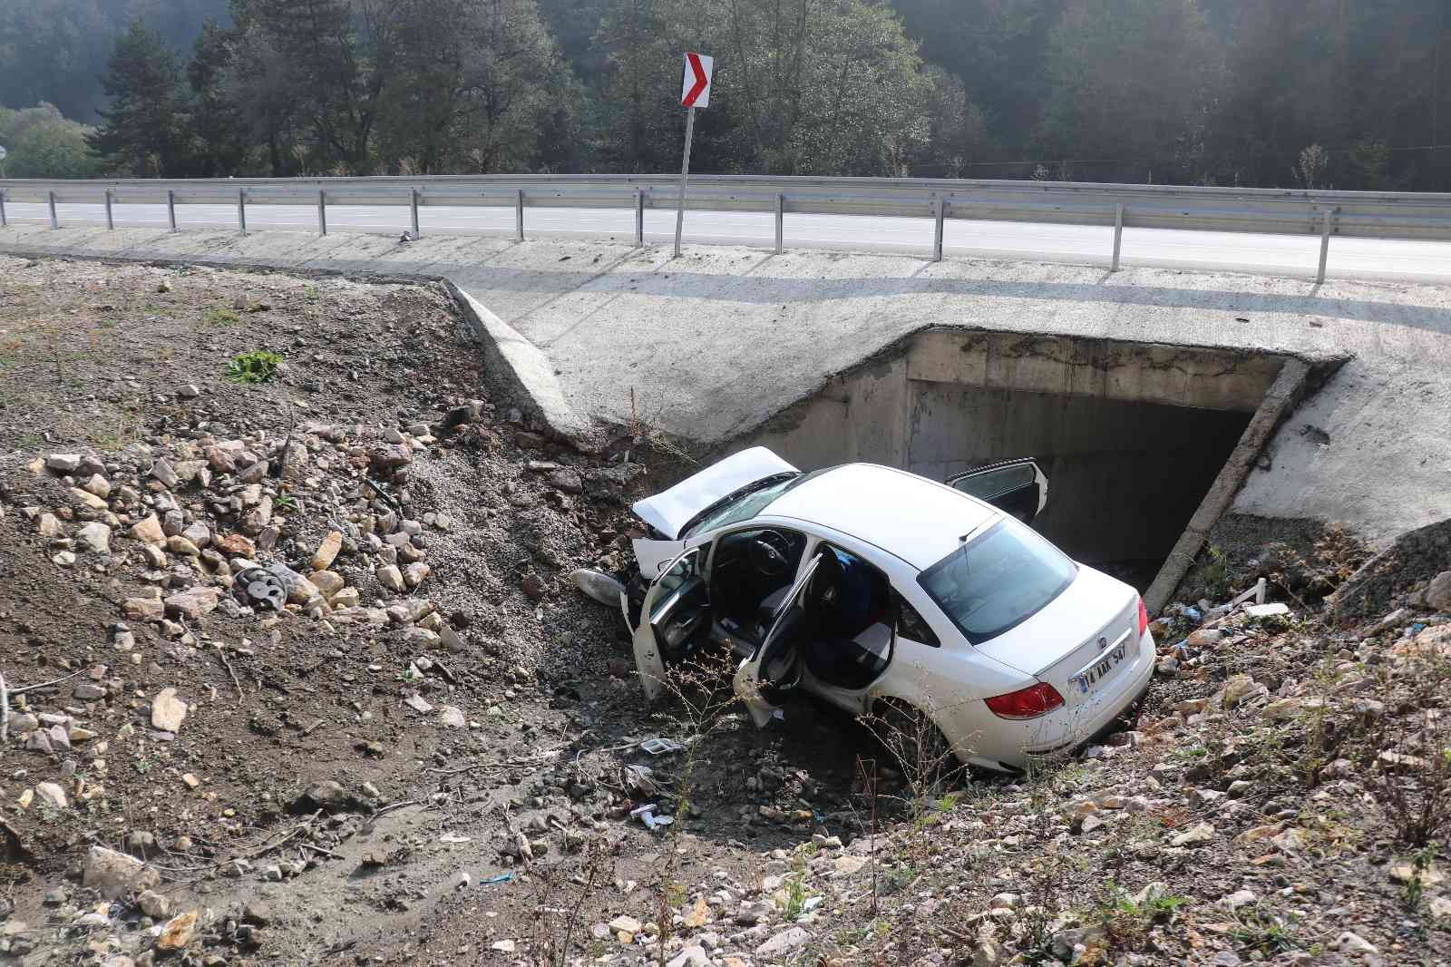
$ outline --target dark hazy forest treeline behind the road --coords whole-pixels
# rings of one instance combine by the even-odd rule
[[[6,174],[1451,190],[1447,0],[26,0]]]

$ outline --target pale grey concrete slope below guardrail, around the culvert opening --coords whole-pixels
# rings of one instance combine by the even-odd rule
[[[547,354],[564,405],[728,449],[916,332],[987,330],[1354,359],[1274,433],[1232,511],[1377,544],[1451,517],[1451,287],[598,241],[0,229],[0,250],[447,277]],[[414,248],[418,245],[418,248]],[[521,347],[522,348],[522,347]],[[1265,466],[1268,463],[1268,466]]]

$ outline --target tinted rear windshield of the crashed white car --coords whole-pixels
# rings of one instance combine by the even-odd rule
[[[917,576],[974,645],[1042,611],[1072,584],[1077,565],[1016,520],[1001,520]]]

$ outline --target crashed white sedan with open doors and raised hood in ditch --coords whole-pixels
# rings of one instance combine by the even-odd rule
[[[1029,524],[1032,460],[937,484],[872,463],[802,473],[743,450],[634,504],[618,592],[650,698],[705,648],[765,726],[797,691],[927,716],[969,765],[1017,771],[1135,714],[1154,672],[1143,601]]]

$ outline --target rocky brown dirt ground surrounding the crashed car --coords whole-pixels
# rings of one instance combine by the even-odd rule
[[[0,963],[1451,955],[1451,575],[1347,627],[1348,544],[1206,558],[1290,613],[1175,605],[1136,730],[943,777],[720,669],[647,709],[567,575],[649,434],[557,447],[477,360],[429,287],[0,258]]]

